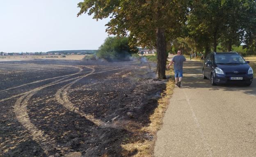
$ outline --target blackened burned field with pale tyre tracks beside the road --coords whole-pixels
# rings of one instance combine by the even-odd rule
[[[165,81],[153,64],[37,60],[0,63],[0,156],[122,157],[153,135]]]

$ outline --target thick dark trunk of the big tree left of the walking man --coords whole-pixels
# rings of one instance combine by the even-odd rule
[[[157,29],[157,73],[158,78],[166,79],[165,67],[167,61],[165,29]]]

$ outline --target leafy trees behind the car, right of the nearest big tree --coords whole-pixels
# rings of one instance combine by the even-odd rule
[[[192,1],[183,26],[183,34],[169,41],[172,48],[256,54],[255,0]]]

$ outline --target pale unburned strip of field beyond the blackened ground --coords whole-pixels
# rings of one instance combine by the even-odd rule
[[[8,55],[0,56],[0,62],[25,61],[25,60],[82,60],[85,55]]]

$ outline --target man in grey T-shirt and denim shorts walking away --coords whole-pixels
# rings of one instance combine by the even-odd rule
[[[183,77],[183,62],[186,61],[186,58],[181,55],[181,51],[177,51],[177,55],[174,56],[167,66],[167,69],[174,64],[174,73],[175,73],[175,82],[176,86],[181,87],[181,81]]]

